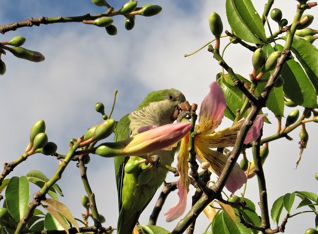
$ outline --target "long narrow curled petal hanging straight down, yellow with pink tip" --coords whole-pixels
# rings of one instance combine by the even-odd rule
[[[171,207],[164,215],[166,222],[171,222],[179,218],[185,211],[187,203],[187,194],[189,191],[189,134],[185,135],[181,139],[181,146],[177,157],[177,170],[180,178],[177,181],[179,201],[173,207]]]

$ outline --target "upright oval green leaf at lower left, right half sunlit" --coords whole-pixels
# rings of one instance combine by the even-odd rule
[[[16,222],[24,217],[27,212],[30,191],[29,182],[25,176],[12,177],[5,190],[5,201],[8,212]]]

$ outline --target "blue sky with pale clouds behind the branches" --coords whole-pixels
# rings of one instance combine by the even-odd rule
[[[254,2],[257,3],[255,7],[258,12],[262,12],[260,1]],[[109,3],[117,3],[114,6],[119,8],[125,2]],[[230,29],[226,22],[225,1],[139,1],[139,5],[145,3],[159,4],[163,10],[154,17],[137,17],[135,28],[131,31],[124,29],[122,17],[115,17],[114,24],[118,28],[116,36],[107,35],[104,28],[81,23],[33,26],[1,35],[0,41],[16,35],[25,36],[27,41],[23,46],[40,51],[46,57],[42,63],[31,63],[16,59],[10,53],[2,56],[7,67],[6,74],[0,77],[2,162],[13,161],[23,153],[28,143],[29,129],[38,119],[46,121],[50,141],[58,144],[58,152],[65,153],[69,139],[81,136],[88,127],[101,121],[94,111],[96,102],[103,102],[106,113],[110,112],[115,89],[119,90],[113,114],[117,120],[133,111],[153,90],[173,87],[182,91],[190,103],[201,103],[209,84],[221,69],[206,50],[188,58],[184,58],[183,54],[196,50],[212,39],[208,26],[211,11],[221,15],[224,29]],[[288,6],[283,4],[286,2],[277,1],[275,7],[280,7],[284,17],[291,21],[296,1],[290,1]],[[75,16],[101,11],[102,8],[93,5],[90,0],[16,0],[14,4],[9,0],[1,0],[0,24],[29,17]],[[309,10],[308,13],[317,15],[317,9]],[[317,21],[312,26],[318,28]],[[221,48],[226,43],[227,38],[221,42]],[[250,58],[251,53],[239,46],[230,47],[225,55],[233,69],[245,77],[251,70]],[[287,109],[285,114],[291,110]],[[275,122],[273,116],[269,118]],[[229,124],[231,122],[224,119],[220,127]],[[294,138],[292,142],[280,139],[269,146],[271,154],[264,165],[269,206],[287,192],[318,192],[314,178],[318,172],[318,127],[317,124],[308,124],[307,128],[310,133],[309,144],[297,170],[295,162],[299,152],[299,132],[291,134]],[[264,135],[268,136],[275,132],[276,126],[265,125],[264,129]],[[250,153],[248,157],[251,159]],[[58,161],[53,157],[33,155],[10,175],[21,176],[37,169],[50,177],[57,165]],[[112,159],[92,155],[87,166],[99,212],[106,217],[105,226],[116,227],[117,193]],[[167,181],[175,179],[169,176]],[[75,217],[80,218],[84,212],[80,205],[84,190],[75,163],[66,169],[59,185],[65,194],[61,201]],[[247,198],[255,203],[258,201],[256,186],[256,178],[249,180],[246,192]],[[35,191],[33,187],[31,193]],[[175,201],[176,193],[170,196],[163,212]],[[141,216],[141,223],[148,222],[152,204]],[[187,210],[190,208],[188,206]],[[288,222],[286,233],[303,233],[315,225],[312,214],[293,219]],[[298,220],[295,222],[295,219]],[[208,221],[203,215],[199,220],[197,232],[202,233]],[[159,218],[158,225],[170,231],[175,224],[165,223],[163,215]]]

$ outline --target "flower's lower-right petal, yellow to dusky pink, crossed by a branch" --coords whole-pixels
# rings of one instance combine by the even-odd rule
[[[209,170],[215,173],[217,176],[220,176],[222,170],[228,160],[228,156],[220,153],[218,151],[207,148],[203,144],[196,145],[197,156],[200,157],[202,161],[210,163]],[[225,187],[231,192],[235,193],[238,189],[242,187],[247,181],[244,171],[240,168],[239,164],[236,163]]]

